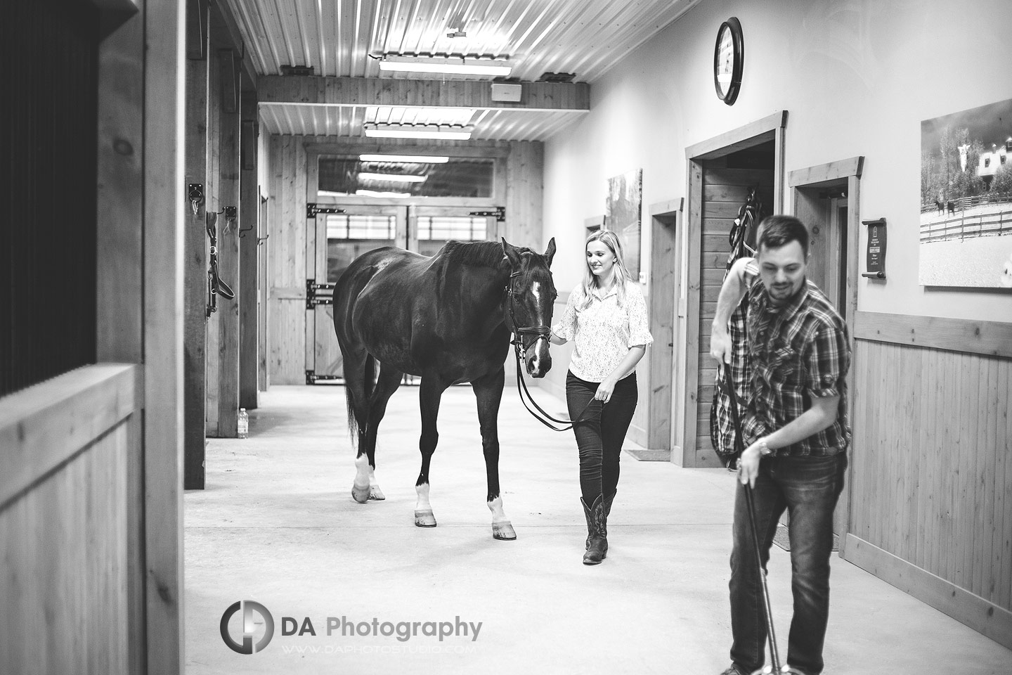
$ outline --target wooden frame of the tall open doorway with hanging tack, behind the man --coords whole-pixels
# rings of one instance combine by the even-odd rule
[[[685,222],[686,260],[682,287],[686,289],[684,353],[676,367],[678,377],[677,400],[681,403],[680,424],[676,428],[671,460],[679,466],[695,466],[695,438],[699,383],[699,296],[702,291],[700,262],[702,257],[702,169],[707,160],[724,157],[769,141],[774,142],[773,212],[783,208],[783,140],[787,125],[787,111],[778,110],[762,119],[739,126],[706,141],[685,148],[688,218]]]

